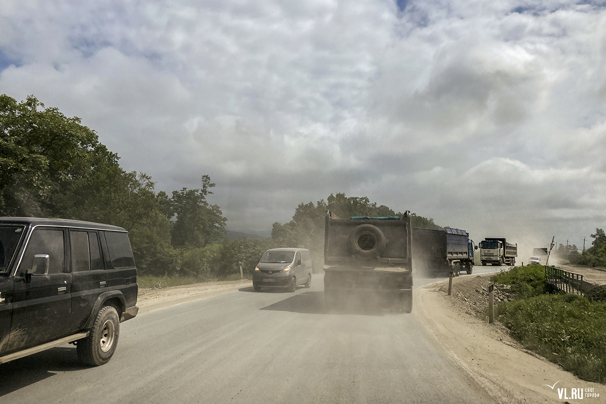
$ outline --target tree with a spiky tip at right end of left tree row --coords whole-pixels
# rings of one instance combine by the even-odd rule
[[[171,206],[176,214],[173,245],[201,248],[224,237],[227,219],[218,205],[210,205],[206,200],[212,187],[215,184],[210,182],[210,176],[204,175],[202,188],[173,191]]]

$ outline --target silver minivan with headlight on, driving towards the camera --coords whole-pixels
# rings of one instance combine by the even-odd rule
[[[265,251],[253,274],[255,291],[261,288],[285,288],[294,292],[297,285],[311,286],[311,256],[305,248],[272,248]]]

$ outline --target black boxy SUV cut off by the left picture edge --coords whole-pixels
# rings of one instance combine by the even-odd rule
[[[68,342],[82,362],[107,363],[137,292],[123,228],[0,217],[0,363]]]

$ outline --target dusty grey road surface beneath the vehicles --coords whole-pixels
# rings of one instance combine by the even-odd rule
[[[413,314],[330,313],[322,290],[319,275],[295,293],[244,288],[138,316],[95,368],[72,345],[5,363],[0,404],[493,402]]]

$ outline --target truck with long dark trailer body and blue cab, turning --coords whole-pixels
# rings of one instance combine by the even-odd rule
[[[477,247],[476,247],[477,248]],[[416,265],[436,273],[459,276],[461,270],[473,271],[473,240],[465,230],[445,227],[444,230],[415,228],[413,256]]]

